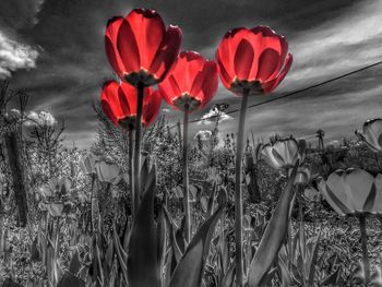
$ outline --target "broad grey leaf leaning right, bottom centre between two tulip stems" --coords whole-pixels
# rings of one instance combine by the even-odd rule
[[[219,208],[196,231],[186,253],[174,271],[170,287],[200,287],[215,225],[223,212]]]

